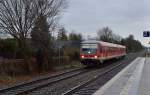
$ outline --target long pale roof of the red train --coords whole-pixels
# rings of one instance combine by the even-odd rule
[[[101,44],[102,46],[110,46],[110,47],[120,47],[120,48],[126,48],[123,45],[119,45],[119,44],[114,44],[114,43],[108,43],[108,42],[103,42],[103,41],[94,41],[94,40],[86,40],[86,41],[82,41],[81,44],[84,43],[91,43],[91,44]]]

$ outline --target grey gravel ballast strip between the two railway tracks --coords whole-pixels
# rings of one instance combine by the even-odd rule
[[[28,95],[61,95],[65,91],[69,90],[70,88],[76,87],[78,84],[84,83],[85,81],[90,80],[93,76],[96,76],[102,73],[104,70],[107,70],[111,68],[112,66],[116,66],[117,64],[112,63],[110,65],[105,65],[102,68],[98,68],[88,73],[84,73],[84,74],[72,77],[70,79],[60,81],[54,85],[49,85],[48,87],[39,89],[38,91],[36,90],[33,92],[29,92]]]

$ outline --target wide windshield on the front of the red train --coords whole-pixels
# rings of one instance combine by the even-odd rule
[[[81,51],[83,54],[96,54],[97,48],[97,44],[82,44]]]

